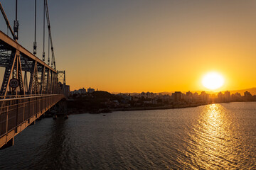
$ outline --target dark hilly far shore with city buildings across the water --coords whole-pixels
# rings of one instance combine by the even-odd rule
[[[219,92],[218,94],[207,94],[206,91],[182,93],[175,91],[172,94],[156,94],[152,92],[142,92],[140,94],[110,94],[107,91],[97,91],[95,89],[79,89],[71,91],[73,98],[78,102],[78,108],[83,107],[86,111],[100,111],[101,109],[134,109],[146,107],[173,107],[183,108],[189,106],[201,106],[208,103],[223,103],[233,101],[256,101],[256,95],[245,91],[243,95],[239,93],[231,94],[230,91]]]

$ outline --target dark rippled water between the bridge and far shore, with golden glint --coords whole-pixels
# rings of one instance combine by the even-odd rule
[[[0,169],[256,169],[256,103],[43,119]]]

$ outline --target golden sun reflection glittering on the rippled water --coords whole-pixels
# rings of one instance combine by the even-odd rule
[[[190,169],[236,169],[242,159],[242,135],[234,125],[232,114],[220,104],[204,106],[193,120],[184,143],[188,160],[178,162]]]

